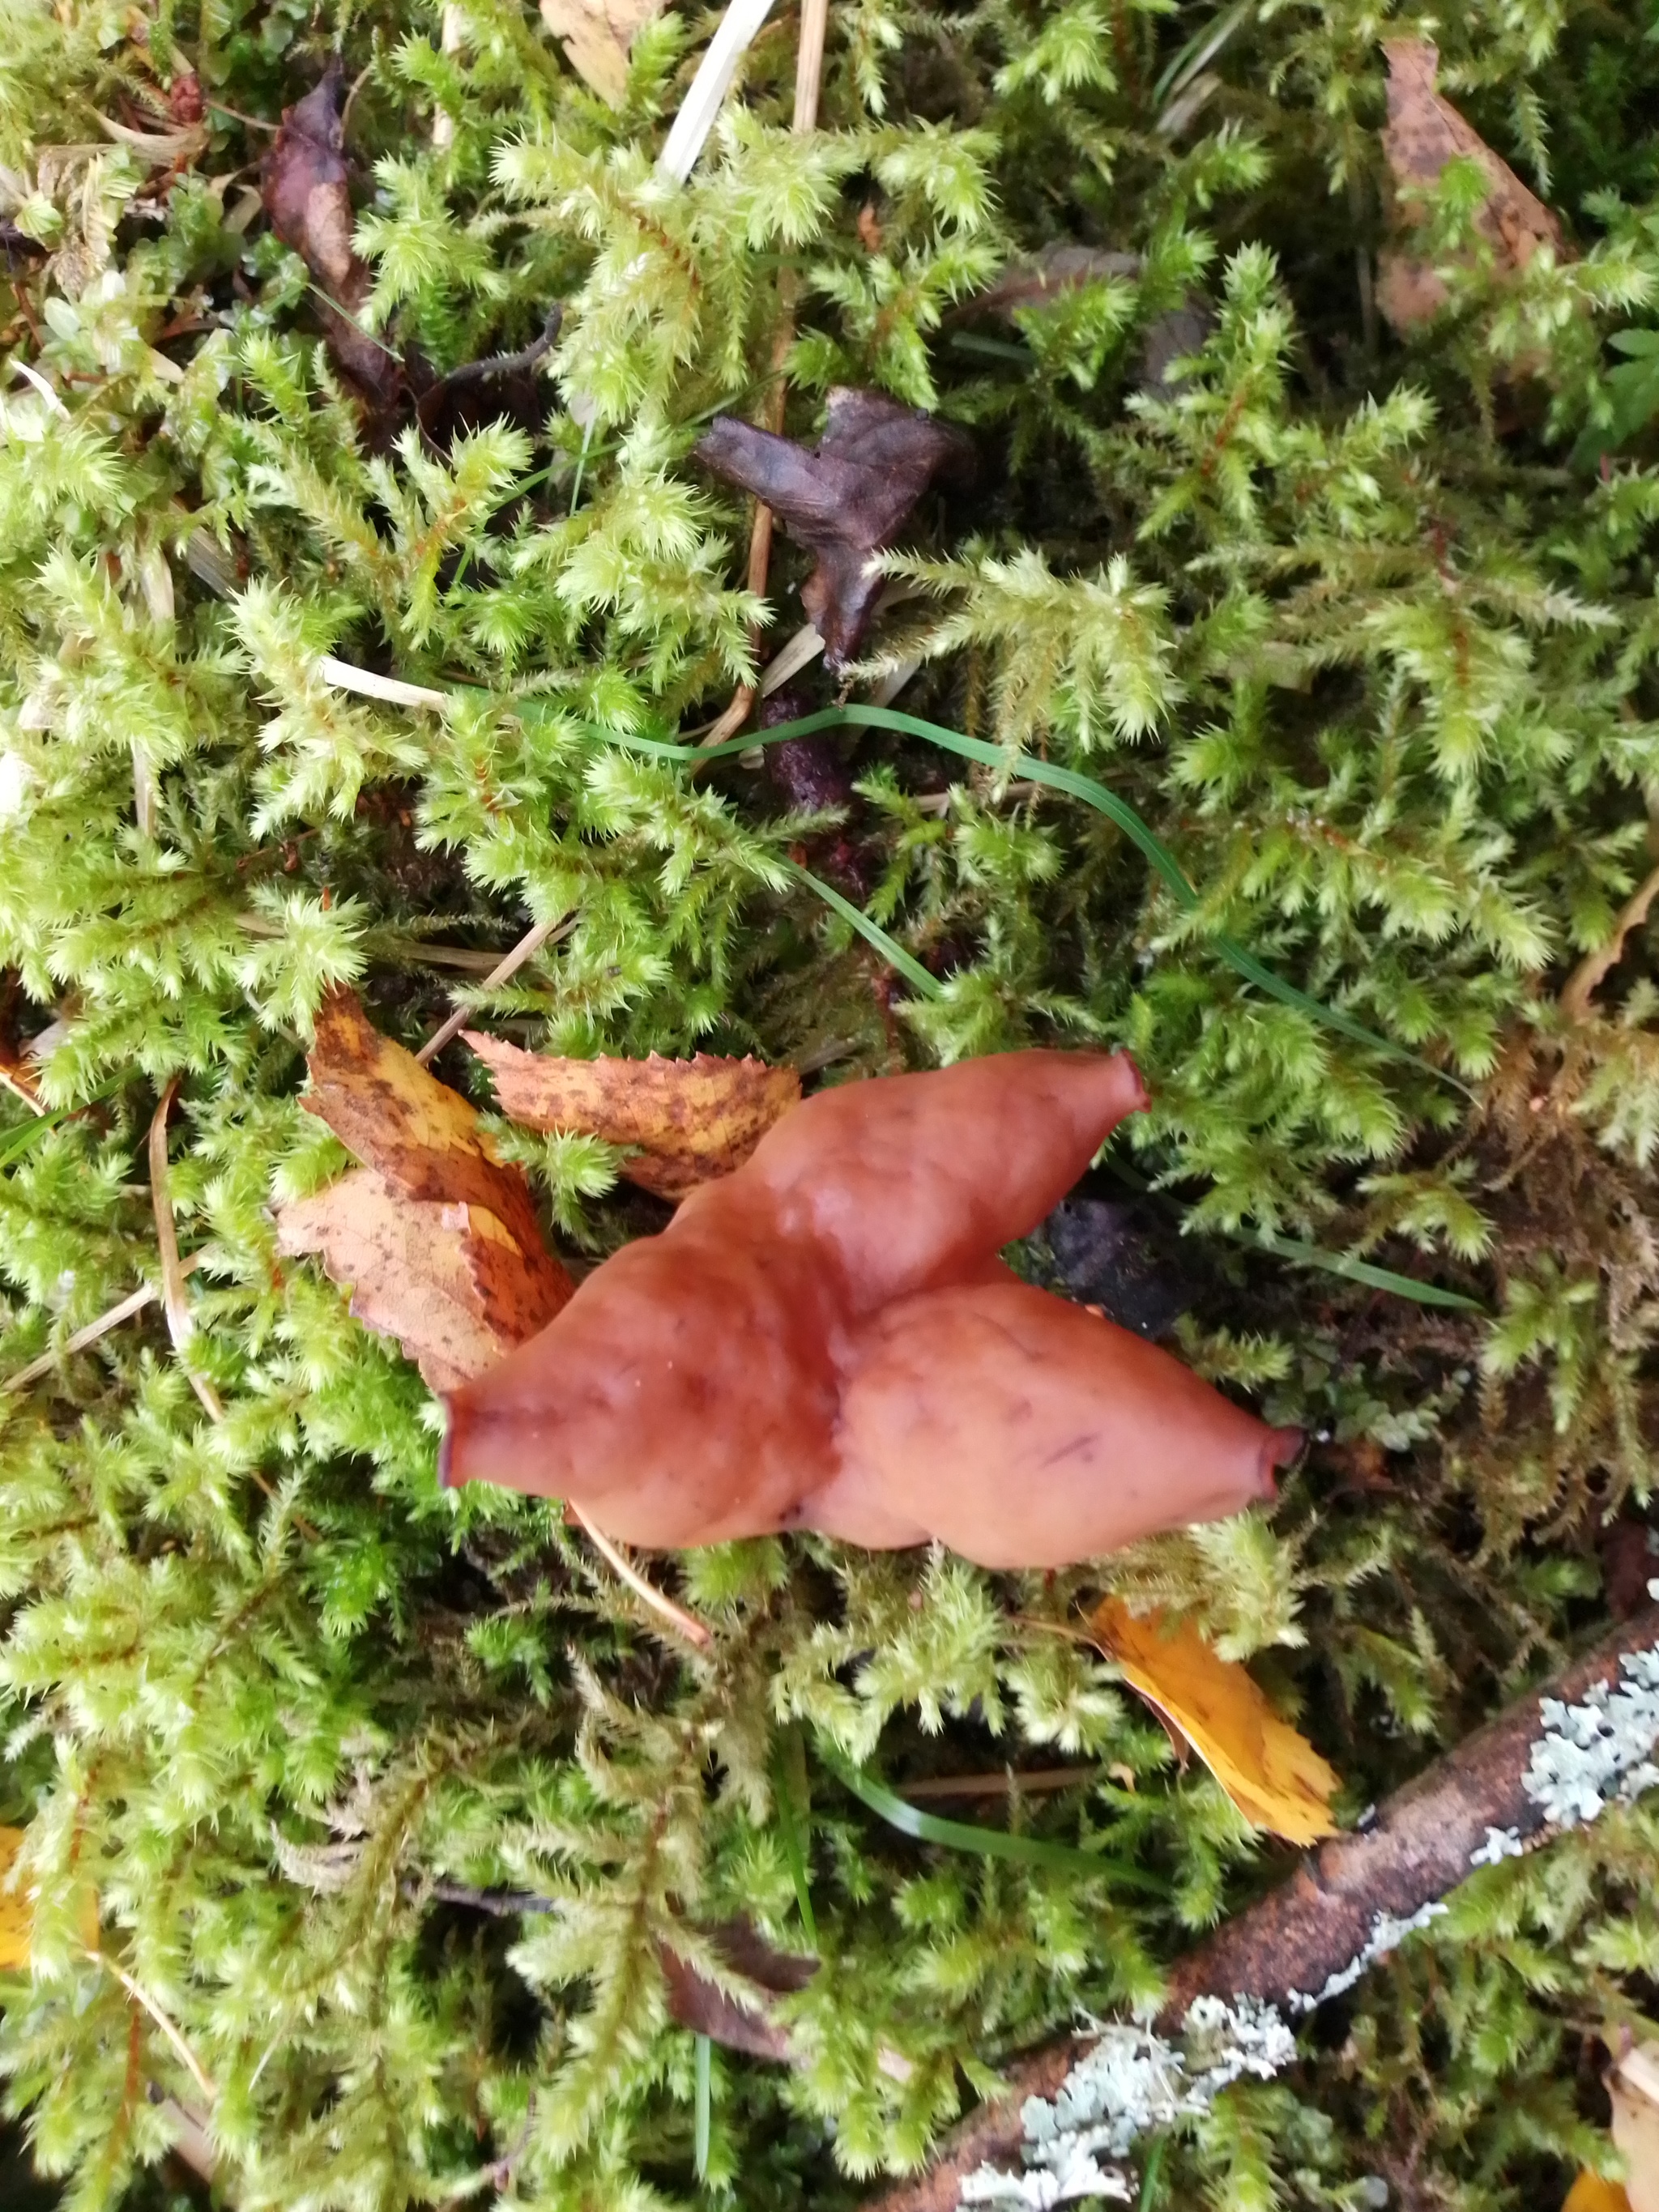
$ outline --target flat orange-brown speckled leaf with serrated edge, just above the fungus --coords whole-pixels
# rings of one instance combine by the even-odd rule
[[[502,1113],[526,1128],[584,1130],[635,1146],[624,1175],[659,1199],[741,1168],[761,1137],[801,1104],[794,1068],[763,1060],[555,1060],[462,1031],[495,1077]]]

